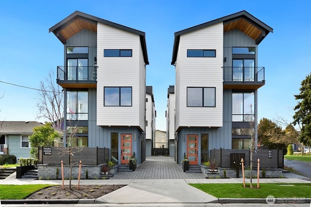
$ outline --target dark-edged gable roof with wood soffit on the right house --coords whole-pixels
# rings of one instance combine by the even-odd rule
[[[265,36],[268,35],[269,32],[273,32],[273,29],[271,27],[260,21],[255,16],[252,16],[251,14],[243,10],[232,15],[224,16],[203,24],[196,25],[194,27],[190,27],[185,30],[181,30],[179,32],[175,32],[173,57],[171,64],[175,64],[176,62],[180,35],[208,27],[219,22],[223,22],[224,32],[238,29],[254,39],[257,45],[265,38]]]

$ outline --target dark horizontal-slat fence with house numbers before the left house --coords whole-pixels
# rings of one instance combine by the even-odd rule
[[[69,156],[69,147],[38,147],[39,164],[79,163],[99,165],[109,159],[109,149],[99,147],[72,147],[72,160]]]

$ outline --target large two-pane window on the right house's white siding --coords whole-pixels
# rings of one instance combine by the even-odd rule
[[[187,88],[188,107],[215,107],[216,88]]]

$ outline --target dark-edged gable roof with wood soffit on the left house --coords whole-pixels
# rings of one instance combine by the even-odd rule
[[[87,29],[93,32],[97,32],[97,23],[103,23],[112,27],[116,27],[127,32],[132,32],[138,34],[140,37],[141,48],[143,51],[143,57],[145,64],[149,64],[148,55],[147,55],[147,46],[145,39],[145,32],[141,32],[121,24],[117,24],[105,19],[98,18],[96,16],[91,16],[83,12],[75,11],[71,15],[67,16],[62,21],[58,22],[49,29],[49,32],[53,32],[55,36],[63,43],[66,44],[66,41],[80,32],[83,29]]]

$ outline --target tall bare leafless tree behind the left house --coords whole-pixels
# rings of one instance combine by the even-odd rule
[[[37,107],[37,119],[43,118],[51,122],[52,127],[62,129],[64,118],[64,93],[62,87],[55,83],[54,73],[50,72],[45,81],[40,82]]]

